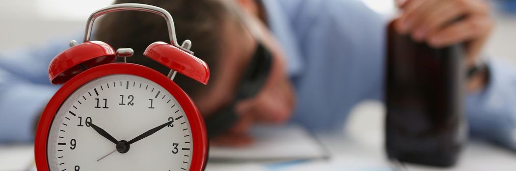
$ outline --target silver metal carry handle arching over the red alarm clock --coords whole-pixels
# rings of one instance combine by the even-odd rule
[[[174,20],[172,18],[172,15],[170,15],[170,13],[163,8],[159,8],[159,7],[152,6],[152,5],[146,5],[146,4],[133,4],[133,3],[116,4],[116,5],[111,5],[111,6],[96,10],[95,12],[93,12],[90,15],[90,17],[88,18],[88,22],[86,23],[86,31],[84,33],[84,42],[90,41],[91,30],[93,28],[93,22],[95,21],[95,19],[97,17],[104,15],[104,14],[111,13],[111,12],[117,12],[117,11],[144,11],[144,12],[151,12],[151,13],[155,13],[155,14],[163,16],[165,18],[165,20],[167,21],[168,36],[170,38],[170,43],[172,45],[174,45],[175,47],[178,47],[182,50],[192,53],[189,50],[189,48],[187,49],[178,44],[178,40],[175,37]],[[189,40],[186,40],[185,42],[187,42],[187,44],[190,44]]]

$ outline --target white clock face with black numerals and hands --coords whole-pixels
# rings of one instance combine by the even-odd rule
[[[47,158],[51,170],[189,170],[191,137],[184,110],[162,86],[110,75],[78,88],[61,105]]]

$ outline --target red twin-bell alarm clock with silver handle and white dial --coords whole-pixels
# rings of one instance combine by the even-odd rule
[[[133,54],[89,41],[96,17],[137,10],[162,15],[171,44],[156,42],[143,53],[171,69],[168,77],[151,68],[114,63]],[[84,43],[70,43],[49,66],[52,84],[63,84],[38,124],[38,170],[203,170],[207,136],[201,113],[173,82],[176,72],[207,84],[209,69],[192,55],[190,41],[180,46],[172,16],[142,4],[118,4],[88,19]]]

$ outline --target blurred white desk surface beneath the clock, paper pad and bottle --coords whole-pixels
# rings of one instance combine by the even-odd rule
[[[396,170],[385,160],[381,146],[363,143],[344,136],[317,136],[331,158],[325,161],[287,163],[208,163],[207,171],[217,170]],[[33,146],[0,146],[0,170],[30,170]],[[451,168],[406,165],[406,170],[516,170],[516,153],[483,142],[470,142],[459,163]]]

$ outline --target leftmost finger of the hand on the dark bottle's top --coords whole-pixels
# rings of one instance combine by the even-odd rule
[[[398,32],[405,34],[411,31],[412,26],[416,22],[416,15],[423,11],[417,11],[420,7],[427,7],[430,4],[437,3],[441,0],[412,0],[410,3],[406,4],[406,7],[403,8],[403,14],[399,17],[397,22]]]

